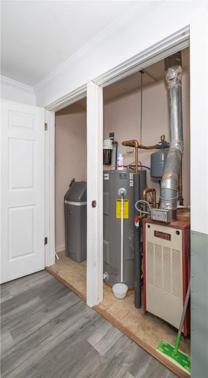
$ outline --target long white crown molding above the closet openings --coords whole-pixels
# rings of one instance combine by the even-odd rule
[[[102,32],[98,33],[69,59],[60,64],[59,67],[36,84],[34,87],[35,94],[38,95],[41,93],[46,87],[50,86],[50,83],[59,77],[63,71],[68,71],[72,69],[73,66],[78,65],[83,60],[87,59],[95,51],[101,49],[111,39],[115,38],[115,36],[119,35],[130,25],[134,24],[138,19],[144,17],[145,14],[159,6],[163,1],[164,0],[146,2],[137,1],[135,5],[119,16],[114,23],[110,24]]]

